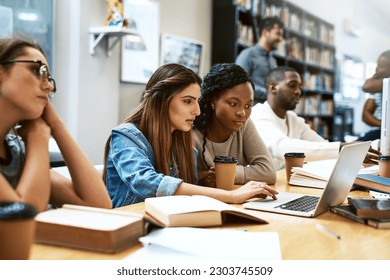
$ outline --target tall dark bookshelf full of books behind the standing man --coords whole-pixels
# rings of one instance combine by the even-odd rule
[[[284,0],[213,0],[212,64],[234,62],[257,43],[259,22],[277,16],[285,40],[274,57],[291,66],[304,83],[296,112],[324,138],[333,140],[335,52],[334,26]]]

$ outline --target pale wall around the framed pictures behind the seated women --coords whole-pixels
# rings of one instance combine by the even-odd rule
[[[161,32],[206,44],[206,72],[210,64],[211,1],[159,0]],[[182,11],[182,12],[180,12]],[[101,46],[89,54],[89,28],[102,26],[104,0],[57,0],[54,104],[68,129],[95,163],[102,163],[105,141],[120,120],[137,106],[144,85],[120,83],[120,47],[108,57]],[[104,43],[104,42],[102,42]]]

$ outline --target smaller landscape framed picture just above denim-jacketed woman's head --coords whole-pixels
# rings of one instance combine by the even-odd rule
[[[179,63],[201,74],[204,43],[164,33],[161,36],[160,64]]]

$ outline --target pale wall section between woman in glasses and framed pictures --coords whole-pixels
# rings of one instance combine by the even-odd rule
[[[106,17],[103,0],[56,2],[54,103],[67,127],[94,163],[119,115],[119,48],[111,57],[101,46],[89,54],[89,28]],[[104,43],[104,42],[102,42]]]

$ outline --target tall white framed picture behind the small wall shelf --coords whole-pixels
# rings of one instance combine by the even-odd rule
[[[123,13],[135,34],[122,39],[121,81],[146,83],[159,63],[160,6],[154,1],[124,0]]]

